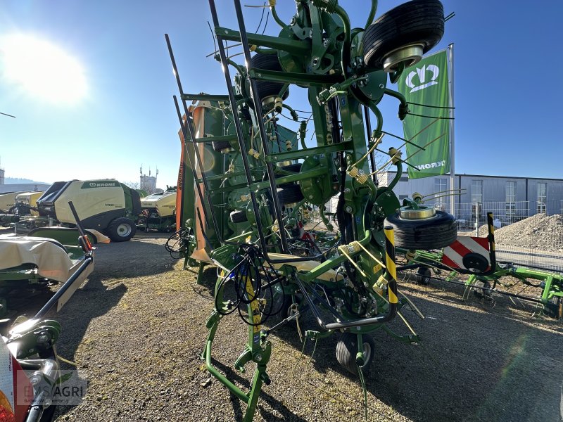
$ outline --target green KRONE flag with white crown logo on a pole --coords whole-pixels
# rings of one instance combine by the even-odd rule
[[[398,87],[400,93],[407,98],[410,113],[415,114],[409,114],[403,120],[405,139],[425,148],[422,151],[407,143],[407,157],[411,157],[407,162],[419,169],[409,167],[409,178],[420,179],[449,173],[450,120],[436,120],[436,117],[448,117],[448,109],[415,105],[450,106],[446,51],[439,51],[406,68],[398,80]]]

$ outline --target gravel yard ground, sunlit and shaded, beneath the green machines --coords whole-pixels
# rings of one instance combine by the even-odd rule
[[[239,399],[211,380],[198,355],[213,307],[214,269],[183,271],[163,247],[165,238],[140,234],[128,243],[99,245],[96,269],[57,319],[58,352],[77,362],[89,382],[77,407],[57,421],[239,421]],[[405,309],[421,335],[404,345],[383,332],[367,379],[369,421],[559,421],[563,326],[532,316],[533,308],[498,298],[495,305],[434,281],[400,283],[426,315]],[[306,324],[306,321],[305,321]],[[406,328],[397,319],[393,327]],[[214,343],[216,366],[232,370],[247,328],[222,321]],[[272,359],[255,421],[362,421],[362,389],[336,362],[336,335],[302,345],[293,327],[271,336]]]

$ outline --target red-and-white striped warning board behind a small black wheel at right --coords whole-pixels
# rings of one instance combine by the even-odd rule
[[[459,236],[442,255],[442,263],[451,268],[461,268],[476,273],[491,268],[488,238]]]

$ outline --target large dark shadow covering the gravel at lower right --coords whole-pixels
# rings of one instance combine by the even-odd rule
[[[399,343],[383,331],[373,334],[379,350],[367,390],[375,397],[412,421],[559,420],[563,333],[421,298],[417,306],[430,317],[416,322],[409,316],[421,345]],[[405,332],[398,320],[391,326]],[[286,340],[295,343],[290,335]],[[355,379],[336,363],[336,341],[334,336],[319,342],[315,369]],[[305,354],[310,352],[308,347]],[[354,402],[359,405],[362,397]]]

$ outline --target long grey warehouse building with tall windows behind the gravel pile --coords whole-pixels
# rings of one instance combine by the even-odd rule
[[[379,185],[388,186],[396,172],[384,172],[379,176]],[[554,215],[563,212],[563,179],[538,179],[535,177],[488,176],[484,174],[456,174],[454,188],[460,194],[448,193],[428,203],[438,209],[450,211],[450,201],[454,201],[455,216],[458,219],[474,221],[476,217],[484,221],[491,211],[502,222],[510,223],[538,213]],[[412,193],[422,195],[450,190],[450,176],[409,179],[403,174],[393,189],[400,200],[411,197]]]

